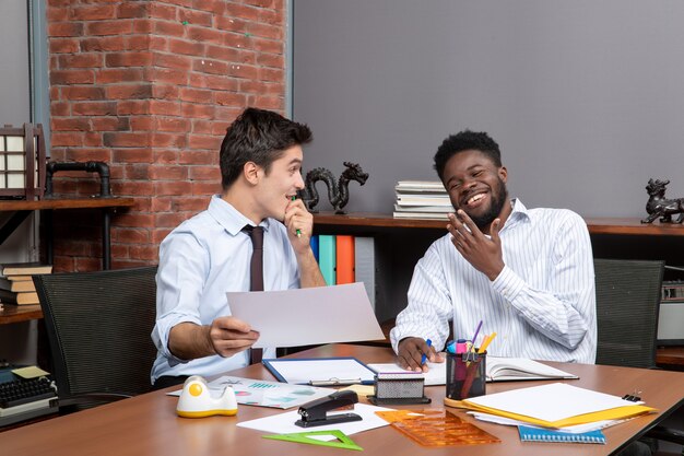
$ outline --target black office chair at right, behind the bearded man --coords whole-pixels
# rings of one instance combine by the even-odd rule
[[[654,369],[664,262],[597,258],[593,268],[597,364]],[[684,445],[684,432],[670,428],[656,426],[646,437]]]

